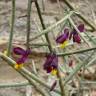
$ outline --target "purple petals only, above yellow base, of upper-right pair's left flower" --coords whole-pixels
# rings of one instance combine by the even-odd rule
[[[66,41],[68,37],[69,37],[69,29],[65,28],[64,33],[57,37],[56,42],[61,44],[64,41]]]

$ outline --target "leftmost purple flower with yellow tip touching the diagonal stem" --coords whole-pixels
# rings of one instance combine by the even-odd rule
[[[17,59],[16,64],[14,66],[16,69],[19,69],[19,68],[23,67],[23,64],[27,60],[28,55],[31,53],[31,51],[30,51],[30,49],[24,50],[24,49],[22,49],[20,47],[15,47],[15,48],[13,48],[13,52],[16,55],[21,56],[20,58]]]

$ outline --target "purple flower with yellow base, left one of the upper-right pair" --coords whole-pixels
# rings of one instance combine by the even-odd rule
[[[69,29],[65,28],[64,33],[57,37],[56,42],[60,44],[61,48],[68,45]]]

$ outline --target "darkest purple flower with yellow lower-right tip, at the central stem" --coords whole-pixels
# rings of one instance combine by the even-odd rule
[[[57,74],[57,68],[58,68],[58,57],[56,54],[51,53],[46,56],[46,61],[43,65],[44,70],[47,71],[47,73],[52,73],[52,75]]]

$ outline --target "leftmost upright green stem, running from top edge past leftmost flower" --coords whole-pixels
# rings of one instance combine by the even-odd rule
[[[13,31],[14,31],[14,22],[15,22],[15,0],[12,0],[12,19],[11,19],[11,31],[9,37],[9,44],[7,49],[7,55],[10,56],[12,49],[12,40],[13,40]]]

